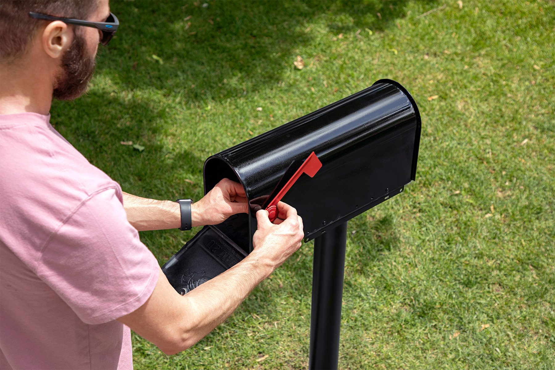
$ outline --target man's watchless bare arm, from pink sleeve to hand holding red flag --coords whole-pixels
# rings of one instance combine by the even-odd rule
[[[278,204],[279,219],[256,213],[254,251],[215,278],[180,296],[162,270],[152,295],[143,306],[118,321],[153,342],[166,354],[193,346],[235,311],[250,291],[301,245],[302,220],[296,210]],[[281,220],[284,221],[281,221]],[[278,224],[279,223],[279,224]]]

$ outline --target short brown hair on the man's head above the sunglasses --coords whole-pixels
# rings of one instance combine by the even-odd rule
[[[96,0],[0,0],[0,62],[23,55],[44,26],[44,21],[29,17],[29,12],[87,19],[97,7]]]

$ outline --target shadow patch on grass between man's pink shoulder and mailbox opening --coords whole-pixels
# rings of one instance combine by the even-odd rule
[[[75,107],[68,109],[69,104]],[[203,194],[204,159],[186,149],[170,151],[160,142],[169,114],[155,102],[92,89],[76,103],[53,104],[52,124],[90,163],[118,181],[123,191],[156,199],[183,195],[198,199]],[[138,151],[122,141],[146,149]]]

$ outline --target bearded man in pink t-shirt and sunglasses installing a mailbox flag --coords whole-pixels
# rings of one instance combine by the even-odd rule
[[[52,98],[84,92],[117,24],[108,0],[0,1],[2,369],[132,368],[129,328],[183,351],[300,247],[302,220],[280,203],[275,224],[257,212],[238,265],[185,296],[169,285],[137,230],[180,227],[180,205],[123,193],[49,124]],[[192,226],[247,211],[226,179],[190,210]]]

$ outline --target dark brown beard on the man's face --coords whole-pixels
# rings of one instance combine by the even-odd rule
[[[62,71],[56,79],[52,96],[58,100],[80,97],[94,72],[94,56],[87,55],[85,39],[75,33],[72,44],[62,57]]]

